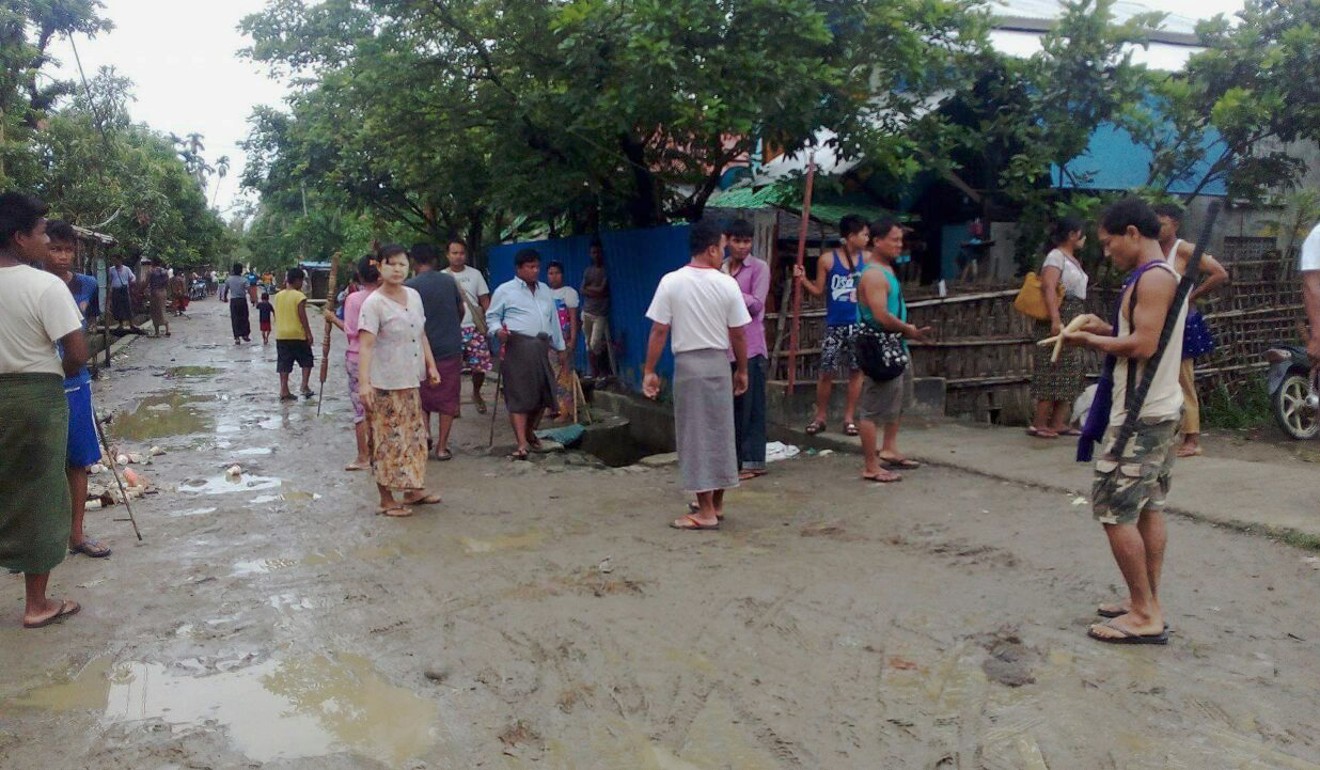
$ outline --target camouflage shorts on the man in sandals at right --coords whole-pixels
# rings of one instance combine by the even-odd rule
[[[1173,481],[1179,420],[1140,420],[1122,458],[1114,460],[1118,428],[1105,432],[1090,487],[1092,514],[1101,524],[1134,524],[1142,511],[1164,510]]]

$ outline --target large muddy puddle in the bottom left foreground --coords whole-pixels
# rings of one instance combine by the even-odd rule
[[[436,704],[385,682],[358,655],[312,656],[187,676],[158,663],[90,663],[16,707],[104,709],[106,722],[219,725],[256,762],[351,752],[401,767],[437,742]]]

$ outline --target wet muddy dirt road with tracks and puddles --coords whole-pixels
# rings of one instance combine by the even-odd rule
[[[273,345],[191,314],[96,384],[125,449],[166,450],[145,540],[90,512],[115,555],[57,568],[83,612],[50,629],[3,578],[0,767],[1320,767],[1308,552],[1175,519],[1171,645],[1110,647],[1071,497],[803,457],[676,532],[675,469],[491,457],[470,404],[444,505],[384,519],[341,470],[342,337],[318,419],[276,402]]]

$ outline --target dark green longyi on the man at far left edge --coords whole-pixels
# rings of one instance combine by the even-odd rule
[[[0,568],[50,572],[69,553],[69,402],[54,374],[0,374]]]

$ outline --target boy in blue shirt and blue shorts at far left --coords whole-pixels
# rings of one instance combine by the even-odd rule
[[[53,219],[46,223],[50,246],[46,256],[46,271],[69,287],[69,293],[82,314],[82,330],[95,325],[100,316],[96,304],[96,279],[75,273],[78,258],[78,235],[67,222]],[[69,495],[71,498],[71,528],[69,531],[69,552],[83,553],[94,559],[110,556],[110,548],[87,536],[83,520],[87,514],[87,469],[100,462],[100,445],[96,440],[96,423],[91,409],[91,372],[86,366],[65,378],[65,399],[69,402],[69,441],[66,445],[66,469]]]

